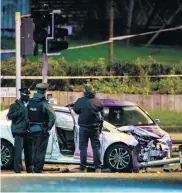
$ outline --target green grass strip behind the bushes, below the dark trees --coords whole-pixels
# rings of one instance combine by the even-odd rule
[[[96,42],[96,41],[95,41]],[[95,43],[93,41],[69,41],[69,47],[80,46]],[[1,39],[2,49],[15,49],[14,39]],[[99,45],[89,48],[73,49],[62,51],[60,56],[53,56],[54,59],[65,57],[69,63],[73,63],[78,59],[81,60],[98,60],[98,58],[105,58],[108,60],[109,45]],[[137,58],[146,59],[152,56],[157,62],[161,64],[180,65],[182,63],[182,47],[171,46],[126,46],[122,41],[114,42],[114,61],[134,62]],[[42,58],[42,55],[28,56],[31,61]]]

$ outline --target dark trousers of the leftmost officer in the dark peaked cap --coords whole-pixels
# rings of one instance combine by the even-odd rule
[[[32,173],[31,141],[28,134],[14,134],[14,138],[14,172],[21,173],[24,149],[26,171]]]

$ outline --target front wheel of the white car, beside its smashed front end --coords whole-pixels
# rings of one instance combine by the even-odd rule
[[[131,150],[126,145],[111,146],[105,158],[106,165],[112,172],[129,172],[132,169]]]

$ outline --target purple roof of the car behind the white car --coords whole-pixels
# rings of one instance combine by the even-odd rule
[[[136,104],[129,101],[118,101],[115,99],[101,99],[103,106],[135,106]]]

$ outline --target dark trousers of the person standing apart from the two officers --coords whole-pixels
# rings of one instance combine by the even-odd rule
[[[99,128],[80,127],[79,129],[79,150],[80,150],[80,169],[84,170],[87,164],[87,148],[90,139],[93,149],[93,159],[95,168],[101,168],[100,161],[100,141]]]

